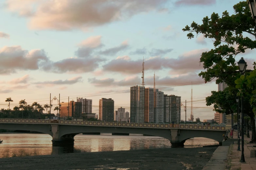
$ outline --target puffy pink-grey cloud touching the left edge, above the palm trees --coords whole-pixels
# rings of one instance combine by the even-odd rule
[[[16,70],[37,70],[48,61],[44,50],[23,50],[21,46],[0,49],[0,74],[15,73]]]

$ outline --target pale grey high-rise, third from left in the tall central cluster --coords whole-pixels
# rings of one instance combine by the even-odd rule
[[[154,119],[155,123],[163,123],[163,92],[155,92]]]

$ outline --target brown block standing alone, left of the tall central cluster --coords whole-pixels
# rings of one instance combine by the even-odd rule
[[[114,100],[102,98],[99,100],[99,120],[114,121]]]

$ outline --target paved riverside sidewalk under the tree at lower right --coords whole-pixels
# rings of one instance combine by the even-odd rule
[[[251,136],[251,133],[250,133]],[[237,135],[234,135],[233,138],[237,139]],[[256,170],[256,158],[255,158],[255,149],[252,146],[256,144],[249,144],[251,138],[244,136],[244,155],[245,163],[240,163],[241,151],[237,151],[237,142],[230,146],[230,153],[228,155],[228,165],[227,169],[230,170]],[[241,146],[241,137],[240,137],[240,149]]]

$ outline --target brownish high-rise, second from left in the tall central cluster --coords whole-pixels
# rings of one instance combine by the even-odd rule
[[[158,92],[158,89],[156,89]],[[154,122],[154,88],[145,88],[145,122]]]

